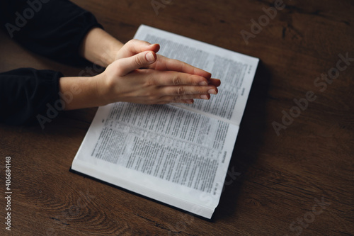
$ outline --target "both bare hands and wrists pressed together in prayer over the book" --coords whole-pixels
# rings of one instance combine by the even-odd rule
[[[211,79],[210,73],[184,62],[156,55],[158,51],[157,44],[131,40],[123,45],[104,30],[94,28],[81,45],[81,55],[107,68],[95,77],[60,78],[64,109],[115,101],[193,103],[193,99],[210,99],[210,94],[217,94],[219,79]]]

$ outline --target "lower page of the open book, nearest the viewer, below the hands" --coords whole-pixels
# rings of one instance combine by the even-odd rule
[[[176,106],[113,103],[98,108],[72,169],[210,218],[238,130]]]

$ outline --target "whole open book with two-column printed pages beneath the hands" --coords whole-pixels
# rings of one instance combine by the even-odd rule
[[[140,26],[139,40],[221,79],[193,104],[112,103],[98,108],[72,169],[211,218],[219,203],[258,59]]]

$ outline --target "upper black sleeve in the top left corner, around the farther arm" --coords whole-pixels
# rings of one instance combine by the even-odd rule
[[[67,0],[1,0],[0,21],[23,47],[73,66],[89,63],[79,46],[91,28],[102,28],[92,13]]]

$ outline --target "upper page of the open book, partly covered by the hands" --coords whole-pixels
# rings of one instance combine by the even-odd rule
[[[178,104],[186,109],[239,125],[256,73],[258,58],[185,38],[149,26],[140,26],[135,38],[149,43],[159,43],[159,54],[181,60],[221,80],[219,94],[210,101],[195,99],[193,104]]]

